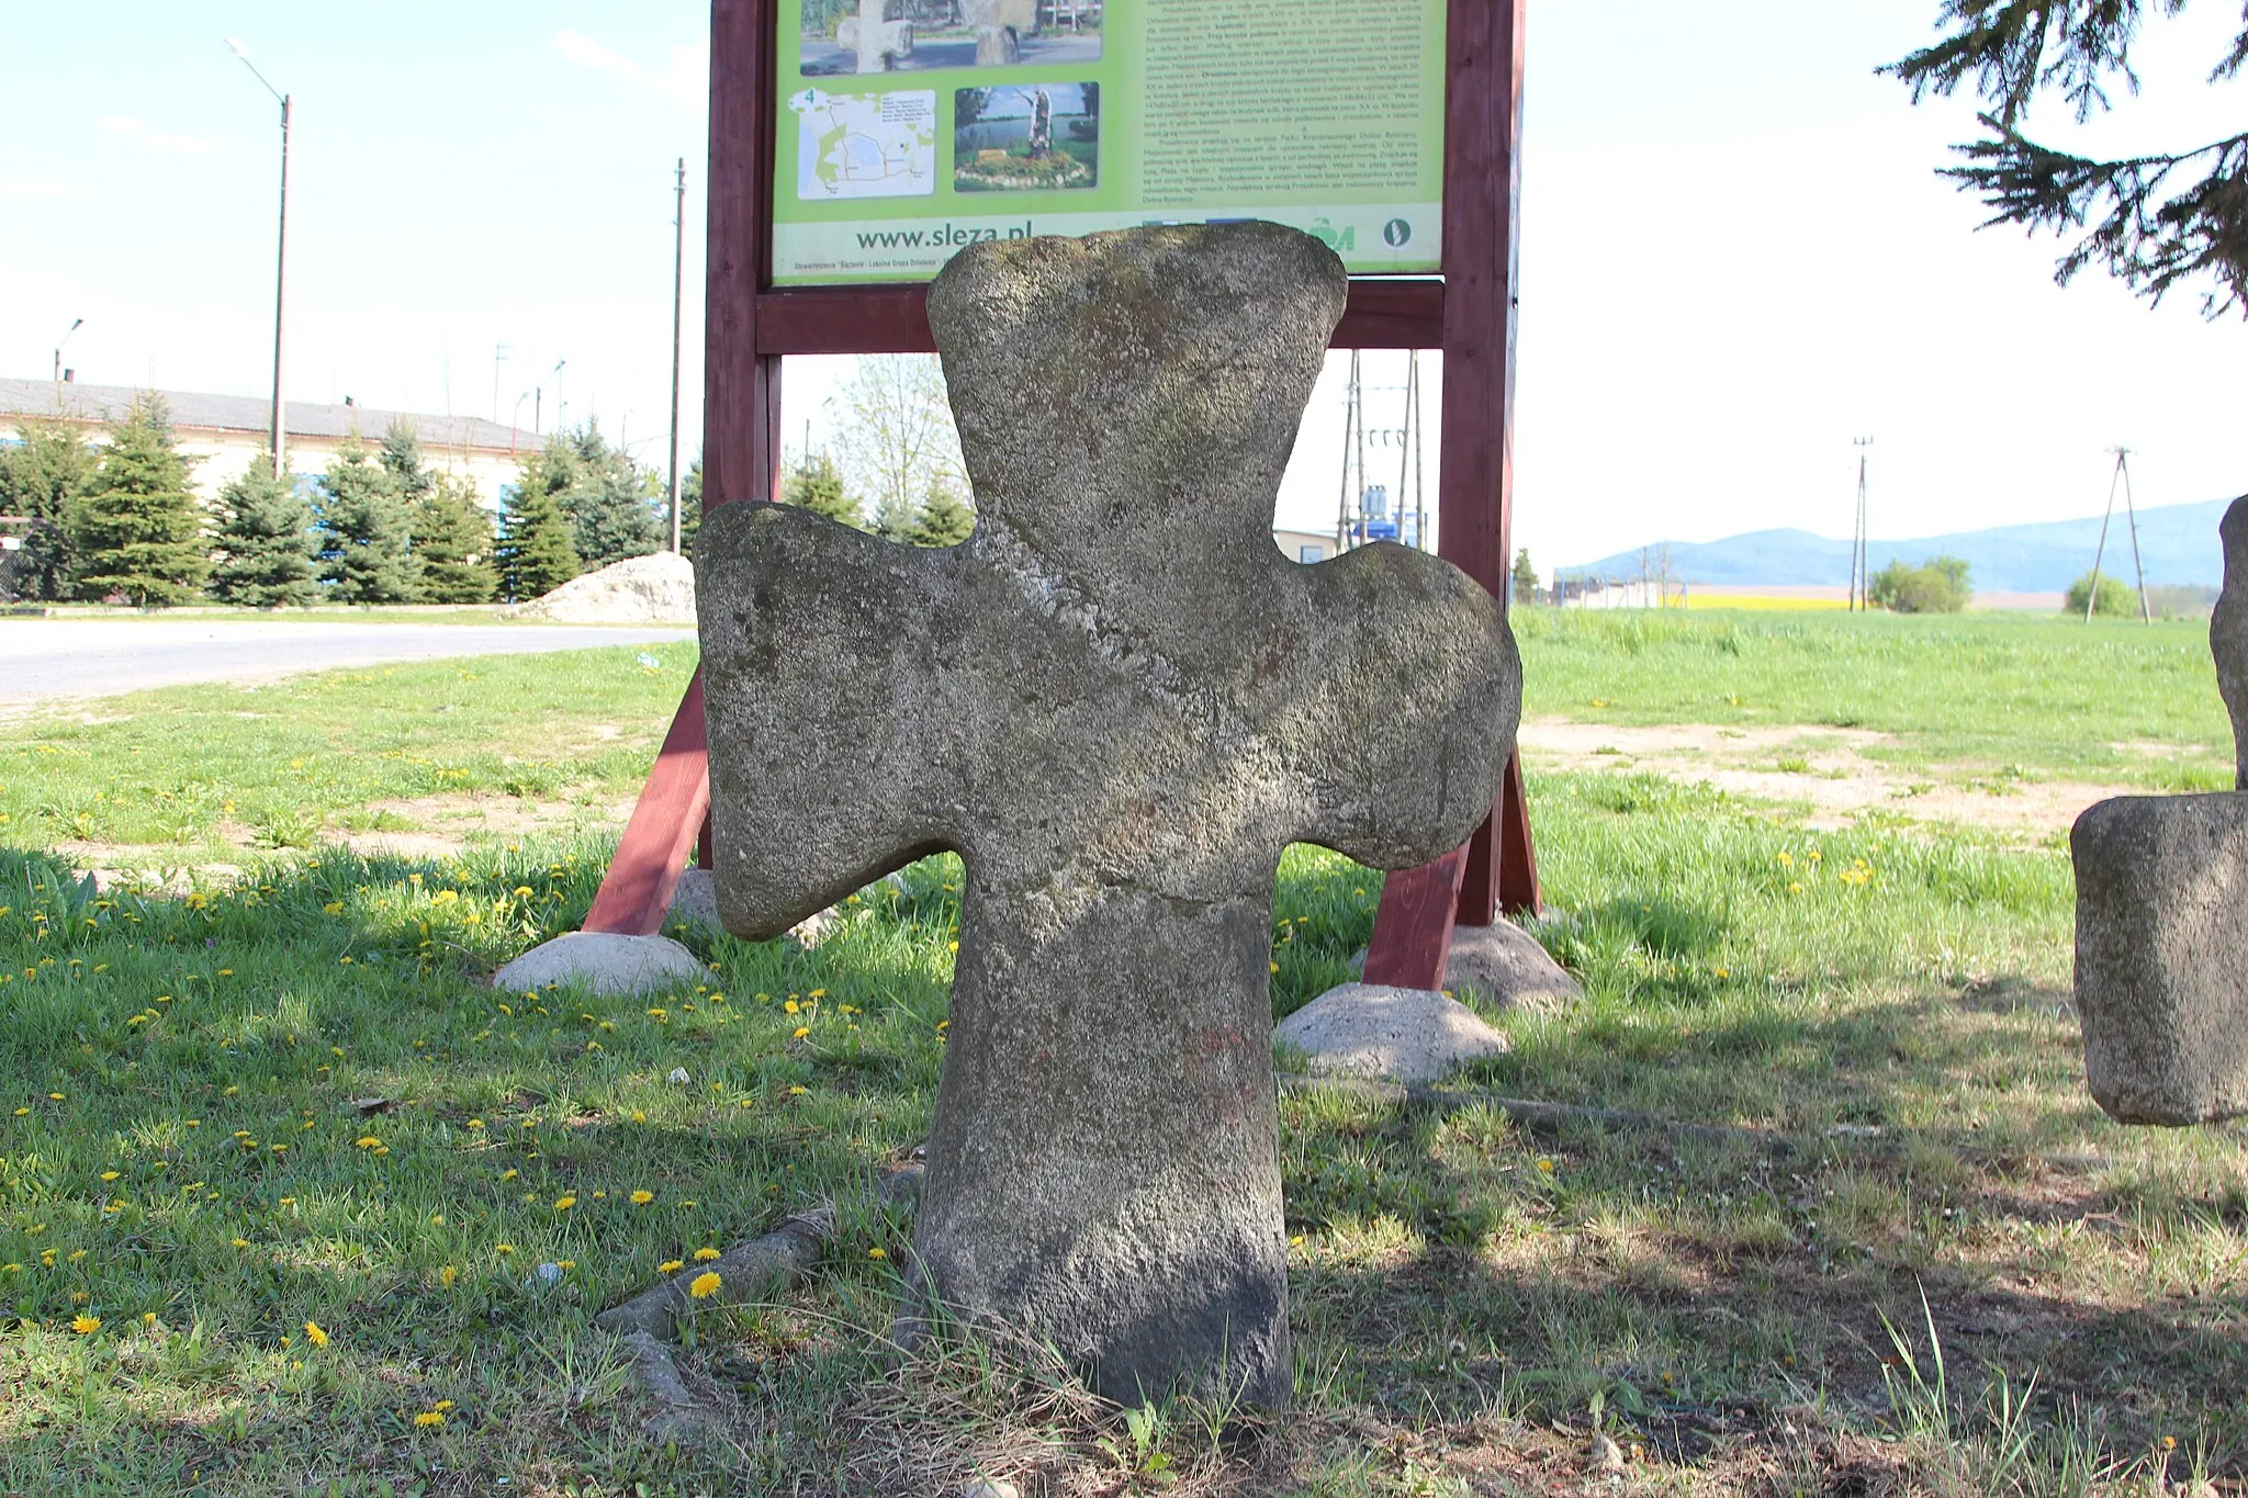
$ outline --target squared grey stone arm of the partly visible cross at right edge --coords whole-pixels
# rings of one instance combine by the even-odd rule
[[[2122,1123],[2248,1114],[2248,795],[2124,795],[2068,833],[2093,1098]]]

